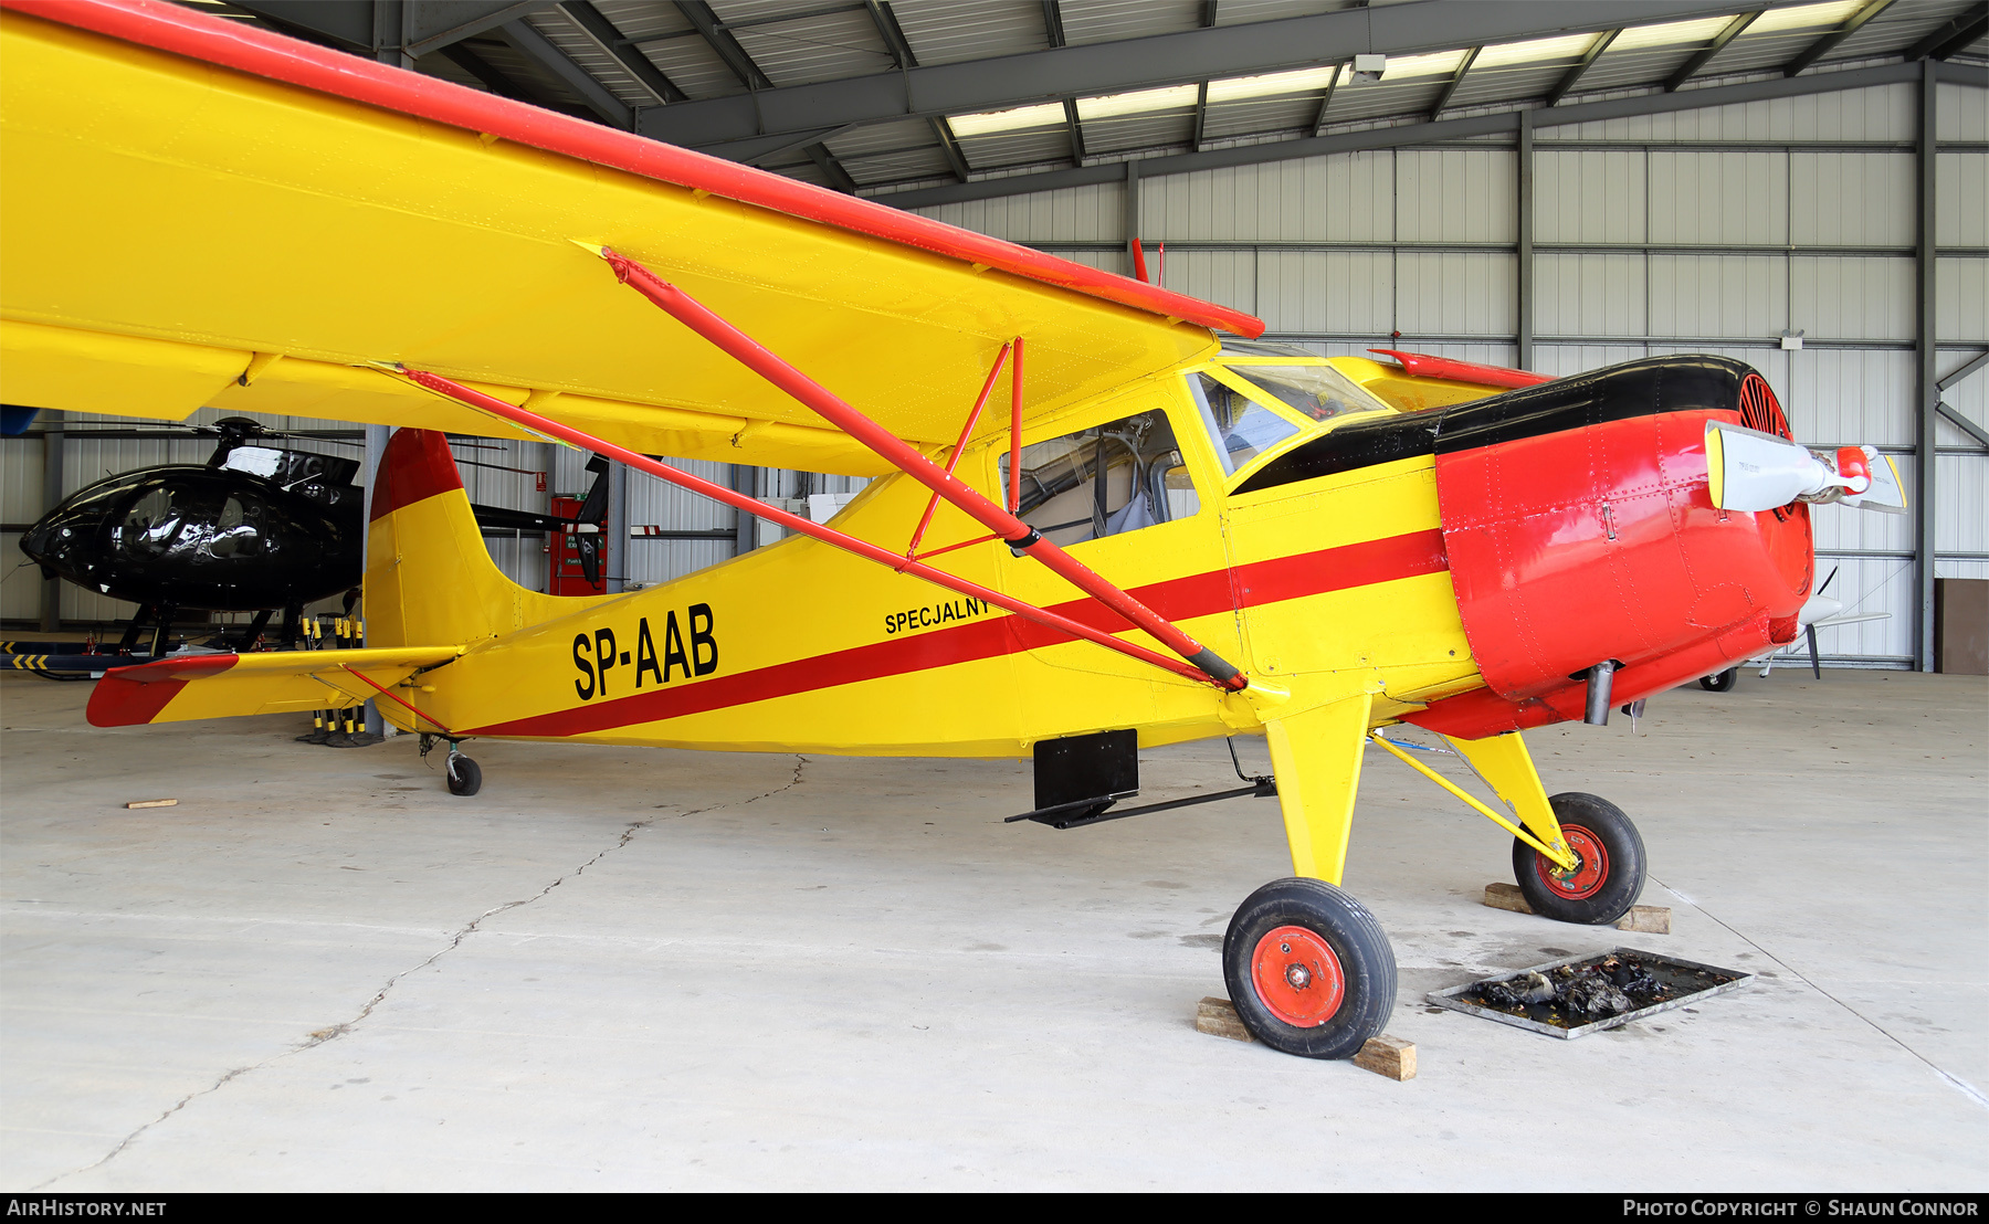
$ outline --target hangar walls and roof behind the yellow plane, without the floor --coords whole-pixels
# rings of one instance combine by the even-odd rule
[[[1140,238],[1168,288],[1319,354],[1400,348],[1551,376],[1732,356],[1768,380],[1800,441],[1876,443],[1915,493],[1909,517],[1818,519],[1832,594],[1886,614],[1822,628],[1826,662],[1931,668],[1933,580],[1989,576],[1989,50],[1975,4],[1557,4],[1551,28],[1539,10],[1480,4],[1440,50],[1414,22],[1386,24],[1398,4],[1297,0],[193,8],[1114,272],[1134,272]],[[1285,48],[1305,38],[1396,58],[1356,83],[1351,60],[1291,68]],[[989,81],[996,58],[1004,79]],[[1205,76],[1211,64],[1229,68]],[[983,101],[907,117],[903,97],[873,97],[913,70],[921,89]],[[1156,83],[1170,72],[1181,79]],[[732,135],[754,99],[768,131]],[[350,425],[271,423],[360,455]],[[0,439],[8,552],[82,485],[213,449],[161,439],[153,421],[48,425]],[[565,447],[459,455],[485,465],[463,469],[479,503],[547,511],[589,481]],[[688,469],[790,509],[863,483]],[[611,533],[627,540],[617,586],[780,535],[642,473],[625,497],[613,513],[634,535]],[[545,588],[543,536],[491,533],[489,546]],[[0,586],[16,628],[131,612],[32,568]]]

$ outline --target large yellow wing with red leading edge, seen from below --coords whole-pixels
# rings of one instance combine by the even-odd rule
[[[151,0],[0,18],[0,395],[519,435],[404,362],[636,451],[883,463],[615,284],[668,276],[915,445],[1026,336],[1028,415],[1249,316]],[[30,16],[32,14],[32,16]],[[996,419],[998,417],[998,419]],[[1004,427],[987,413],[983,431]]]

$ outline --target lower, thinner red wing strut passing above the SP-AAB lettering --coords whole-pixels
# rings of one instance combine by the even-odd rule
[[[877,544],[871,544],[869,540],[859,540],[853,535],[835,531],[831,527],[823,527],[821,523],[814,523],[810,519],[802,519],[800,515],[790,515],[788,511],[780,511],[776,507],[770,507],[764,501],[758,501],[754,497],[746,497],[744,493],[736,493],[732,489],[726,489],[724,485],[714,485],[710,481],[704,481],[700,477],[690,475],[688,471],[680,471],[676,467],[670,467],[668,463],[660,463],[656,459],[650,459],[648,455],[638,455],[638,453],[634,453],[634,451],[631,451],[627,447],[619,447],[619,445],[615,445],[611,441],[605,441],[605,439],[599,439],[599,437],[595,437],[591,433],[583,433],[583,431],[579,431],[579,429],[575,429],[571,425],[563,425],[561,421],[553,421],[549,417],[541,417],[535,411],[527,411],[523,407],[515,407],[511,403],[505,403],[503,399],[493,399],[491,395],[485,395],[481,391],[473,391],[473,389],[469,389],[469,387],[465,387],[465,385],[461,385],[457,382],[442,378],[440,374],[428,374],[426,370],[408,370],[406,366],[394,366],[394,364],[384,364],[384,362],[380,364],[380,368],[382,370],[390,370],[390,372],[400,374],[400,376],[406,376],[414,383],[418,383],[422,387],[428,387],[430,391],[436,391],[438,395],[446,395],[450,399],[455,399],[457,403],[467,403],[469,407],[487,411],[487,413],[491,413],[495,417],[501,417],[505,421],[513,421],[517,425],[523,425],[523,427],[533,429],[537,433],[543,433],[547,437],[557,437],[557,439],[561,439],[565,443],[571,443],[575,447],[593,451],[597,455],[607,455],[609,459],[615,459],[619,463],[627,463],[629,467],[633,467],[636,471],[646,471],[648,475],[652,475],[652,477],[656,477],[660,481],[668,481],[668,483],[676,485],[678,489],[688,489],[692,493],[700,493],[704,497],[710,497],[712,501],[724,503],[724,505],[732,507],[734,511],[744,511],[748,515],[756,515],[756,517],[766,519],[770,523],[780,523],[788,531],[794,531],[794,533],[800,533],[800,535],[806,535],[806,536],[814,536],[814,538],[821,540],[823,544],[833,544],[833,546],[843,548],[847,552],[855,552],[857,556],[861,556],[865,560],[875,560],[879,564],[887,564],[893,570],[911,574],[915,578],[925,578],[927,582],[933,582],[935,586],[945,586],[947,590],[953,590],[957,594],[973,596],[977,600],[987,600],[989,604],[994,604],[996,608],[1006,608],[1006,610],[1014,612],[1016,616],[1022,616],[1026,620],[1034,620],[1036,624],[1048,626],[1048,628],[1058,630],[1062,634],[1070,634],[1072,638],[1082,638],[1086,642],[1096,642],[1098,646],[1104,646],[1108,650],[1116,650],[1120,654],[1128,654],[1128,656],[1132,656],[1132,658],[1136,658],[1140,662],[1154,664],[1156,668],[1166,668],[1168,672],[1174,672],[1175,676],[1183,676],[1183,678],[1193,680],[1197,684],[1203,684],[1203,682],[1211,680],[1211,676],[1207,676],[1199,666],[1187,666],[1187,664],[1183,664],[1179,660],[1170,660],[1168,656],[1158,654],[1154,650],[1148,650],[1146,646],[1138,646],[1134,642],[1122,642],[1120,638],[1114,638],[1112,634],[1108,634],[1104,630],[1098,630],[1098,628],[1092,628],[1088,624],[1070,620],[1068,616],[1058,616],[1056,612],[1048,612],[1048,610],[1038,608],[1034,604],[1026,604],[1026,602],[1022,602],[1022,600],[1018,600],[1014,596],[1006,596],[1006,594],[1002,594],[998,590],[989,590],[987,586],[981,586],[979,582],[969,582],[967,578],[961,578],[957,574],[949,574],[945,570],[935,570],[929,564],[921,564],[917,560],[907,560],[907,558],[899,556],[897,552],[891,552],[889,548],[879,548]],[[422,715],[422,717],[428,717],[428,715]],[[430,721],[434,721],[434,719],[430,719]]]

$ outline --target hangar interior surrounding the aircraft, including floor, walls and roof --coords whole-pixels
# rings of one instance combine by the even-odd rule
[[[1816,517],[1832,594],[1886,614],[1820,630],[1820,680],[1530,733],[1549,789],[1635,813],[1667,936],[1480,904],[1510,839],[1366,753],[1349,878],[1402,966],[1402,1083],[1193,1029],[1229,906],[1289,862],[1271,805],[1052,833],[1000,823],[1026,761],[523,741],[479,745],[493,785],[461,801],[406,737],[86,733],[88,686],[0,674],[10,1190],[1979,1188],[1989,691],[1899,672],[1933,670],[1935,580],[1989,578],[1989,4],[185,8],[1144,266],[1315,354],[1734,358],[1798,441],[1890,455],[1913,509]],[[0,544],[211,449],[42,413],[0,439]],[[551,443],[452,451],[477,503],[591,479]],[[810,517],[863,487],[682,467]],[[638,471],[613,489],[609,590],[778,538]],[[485,544],[545,590],[543,536]],[[131,612],[0,582],[12,628]],[[1144,767],[1156,799],[1235,785],[1219,741]],[[1619,946],[1754,978],[1581,1041],[1426,1005]]]

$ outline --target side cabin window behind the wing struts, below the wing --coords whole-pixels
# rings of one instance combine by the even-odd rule
[[[1000,457],[1002,489],[1008,455]],[[1201,509],[1166,413],[1144,411],[1022,447],[1016,513],[1052,544],[1082,544]]]

